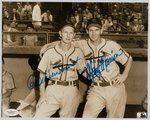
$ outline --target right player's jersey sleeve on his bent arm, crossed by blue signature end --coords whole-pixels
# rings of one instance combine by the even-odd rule
[[[130,55],[116,42],[111,42],[111,46],[113,46],[113,55],[115,60],[125,65],[128,61]]]

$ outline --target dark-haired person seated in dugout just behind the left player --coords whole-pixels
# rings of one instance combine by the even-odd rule
[[[39,57],[37,55],[31,55],[28,59],[28,64],[33,70],[32,75],[28,79],[28,87],[31,91],[25,99],[18,101],[20,105],[17,107],[17,110],[21,117],[33,117],[37,101],[39,100],[39,71],[37,71]]]

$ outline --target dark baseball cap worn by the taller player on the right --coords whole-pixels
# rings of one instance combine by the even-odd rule
[[[92,26],[102,28],[102,24],[101,24],[100,19],[98,19],[98,18],[89,19],[87,22],[87,29],[89,29],[89,27],[92,27]]]

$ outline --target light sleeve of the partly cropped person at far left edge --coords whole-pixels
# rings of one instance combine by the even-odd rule
[[[7,90],[15,89],[16,86],[15,86],[13,75],[11,73],[8,73],[6,78],[7,78],[6,79],[6,89]]]

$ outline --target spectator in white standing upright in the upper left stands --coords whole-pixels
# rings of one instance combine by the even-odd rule
[[[42,23],[42,17],[41,17],[41,3],[37,2],[36,5],[33,7],[32,12],[32,24],[34,25],[35,29],[38,29],[41,27]]]

